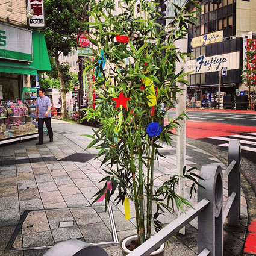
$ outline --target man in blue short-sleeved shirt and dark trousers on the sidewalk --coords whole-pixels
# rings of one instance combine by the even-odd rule
[[[36,145],[43,144],[43,123],[45,122],[50,142],[53,142],[54,134],[52,133],[51,126],[51,99],[45,96],[45,89],[40,88],[38,90],[39,98],[36,100],[36,119],[38,120],[38,135],[39,142]]]

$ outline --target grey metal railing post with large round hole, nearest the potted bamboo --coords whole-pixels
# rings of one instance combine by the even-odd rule
[[[210,256],[223,256],[223,176],[220,166],[202,166],[198,202],[210,204],[198,216],[198,254],[207,248]]]

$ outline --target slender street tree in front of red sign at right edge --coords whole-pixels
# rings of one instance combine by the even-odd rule
[[[256,86],[256,41],[247,40],[246,65],[243,66],[242,82],[248,87],[249,108],[251,108],[251,87]]]

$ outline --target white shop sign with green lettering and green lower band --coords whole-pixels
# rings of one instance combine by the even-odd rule
[[[32,32],[0,23],[0,58],[32,62]]]

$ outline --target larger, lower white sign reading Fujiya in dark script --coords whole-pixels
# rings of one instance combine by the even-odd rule
[[[216,72],[222,67],[227,67],[228,70],[239,69],[239,55],[240,52],[231,52],[211,57],[201,55],[195,60],[187,61],[187,72],[192,72],[192,74]]]

